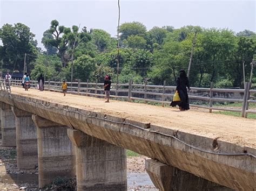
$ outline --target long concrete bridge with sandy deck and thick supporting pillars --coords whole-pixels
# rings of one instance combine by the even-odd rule
[[[256,189],[253,119],[17,87],[0,103],[2,145],[38,164],[39,187],[76,175],[77,190],[127,190],[129,149],[160,190]]]

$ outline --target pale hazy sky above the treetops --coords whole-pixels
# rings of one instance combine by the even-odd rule
[[[103,29],[117,36],[118,0],[116,1],[61,1],[0,0],[0,27],[4,24],[23,23],[36,34],[38,46],[43,48],[43,32],[50,27],[51,20],[60,25],[79,25],[87,29]],[[152,1],[120,0],[120,23],[141,22],[147,30],[153,26],[198,25],[217,27],[235,32],[245,29],[256,32],[256,3],[247,0],[198,0],[198,1]]]

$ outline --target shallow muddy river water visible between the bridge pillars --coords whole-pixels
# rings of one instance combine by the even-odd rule
[[[0,183],[5,185],[29,185],[29,188],[38,186],[38,174],[5,174],[0,175]],[[157,190],[147,173],[127,173],[128,190]],[[6,186],[8,188],[8,186]]]

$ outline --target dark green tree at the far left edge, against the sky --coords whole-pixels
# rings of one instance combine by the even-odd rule
[[[33,40],[34,37],[35,34],[30,32],[30,28],[22,23],[2,26],[0,29],[0,39],[3,43],[1,54],[6,69],[23,71],[25,53],[30,55],[27,56],[26,63],[35,59],[37,42]]]

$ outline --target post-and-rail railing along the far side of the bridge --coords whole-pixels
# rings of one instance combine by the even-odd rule
[[[87,80],[87,82],[66,82],[68,84],[68,93],[78,94],[84,96],[93,97],[104,97],[104,84],[103,83],[92,83]],[[21,80],[14,79],[11,82],[12,86],[21,86]],[[31,88],[37,88],[37,81],[30,81]],[[44,89],[49,91],[62,91],[62,82],[55,81],[45,81]],[[1,88],[4,89],[4,86]],[[145,84],[136,84],[130,81],[129,83],[112,83],[110,90],[110,97],[142,102],[142,103],[158,103],[163,107],[166,104],[170,104],[173,95],[176,91],[175,86],[166,86],[165,82],[163,86],[150,85],[145,82]],[[252,95],[256,94],[256,90],[251,89],[251,83],[246,83],[245,89],[220,89],[214,88],[213,83],[211,83],[210,88],[197,88],[191,87],[190,93],[188,93],[191,106],[197,108],[208,109],[209,112],[212,110],[219,111],[234,111],[241,112],[242,117],[247,117],[249,113],[256,114],[255,109],[249,109],[250,103],[255,104],[255,97]],[[228,108],[228,107],[214,107],[215,103],[241,103],[242,107]]]

